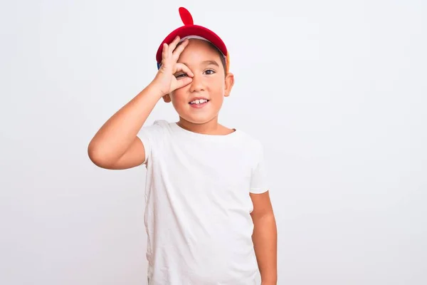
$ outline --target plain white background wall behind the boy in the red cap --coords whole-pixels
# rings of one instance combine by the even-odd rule
[[[145,284],[144,168],[87,146],[179,6],[231,52],[221,123],[265,145],[278,284],[427,284],[422,0],[2,1],[0,284]]]

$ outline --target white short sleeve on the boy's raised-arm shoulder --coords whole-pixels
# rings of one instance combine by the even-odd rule
[[[141,140],[144,145],[145,160],[142,162],[143,165],[147,165],[147,162],[151,159],[153,153],[153,147],[159,145],[164,138],[164,127],[168,125],[167,121],[156,120],[152,125],[147,125],[139,130],[137,137]]]

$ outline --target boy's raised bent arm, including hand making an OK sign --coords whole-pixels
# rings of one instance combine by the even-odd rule
[[[144,145],[137,137],[156,103],[177,88],[191,83],[193,73],[187,66],[177,63],[188,44],[179,37],[170,45],[164,43],[162,67],[152,83],[123,106],[97,131],[88,146],[88,155],[95,165],[107,169],[126,169],[141,165],[145,160]],[[184,71],[188,76],[177,80],[174,73]]]

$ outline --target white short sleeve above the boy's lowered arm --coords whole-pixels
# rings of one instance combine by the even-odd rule
[[[251,189],[254,194],[261,194],[268,191],[267,165],[263,145],[260,142],[255,147],[255,163],[251,173]]]

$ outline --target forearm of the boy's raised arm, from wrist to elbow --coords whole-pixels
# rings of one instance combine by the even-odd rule
[[[88,147],[90,156],[103,160],[119,159],[135,140],[160,98],[162,94],[156,86],[144,88],[97,131]]]

